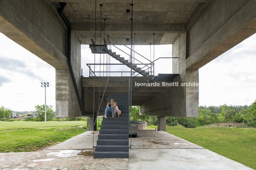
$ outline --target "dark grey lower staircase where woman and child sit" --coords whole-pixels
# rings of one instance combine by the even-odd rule
[[[112,114],[107,113],[107,119],[103,118],[94,158],[129,158],[128,93],[111,93],[107,101],[110,99],[117,102],[121,114],[119,118],[112,118]]]

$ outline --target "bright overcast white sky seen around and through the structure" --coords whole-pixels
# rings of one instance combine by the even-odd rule
[[[112,50],[128,59],[114,47]],[[150,58],[149,46],[136,46],[135,50]],[[87,45],[82,45],[81,53],[83,75],[87,77],[85,63],[93,63],[94,54]],[[171,57],[171,45],[155,46],[155,59],[159,57]],[[99,56],[96,56],[97,61]],[[111,59],[111,63],[118,62]],[[156,61],[155,75],[170,73],[171,65],[171,59]],[[199,70],[199,105],[250,105],[256,100],[255,66],[256,34]],[[118,67],[111,66],[111,70],[118,70]],[[34,110],[37,104],[44,104],[41,82],[50,83],[46,89],[46,104],[55,110],[54,68],[0,33],[0,106],[16,111]]]

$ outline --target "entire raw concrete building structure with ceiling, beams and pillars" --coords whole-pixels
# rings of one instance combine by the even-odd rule
[[[71,26],[70,58],[68,28],[58,12],[59,0],[0,0],[0,32],[56,69],[58,117],[92,116],[94,78],[81,78],[81,44],[91,45],[94,40],[95,0],[65,2],[63,14]],[[131,14],[126,10],[131,10],[131,0],[97,0],[96,45],[104,41],[103,37],[100,40],[99,4],[103,4],[102,18],[107,19],[105,32],[111,44],[130,45]],[[136,44],[149,45],[155,33],[155,44],[172,44],[172,56],[178,57],[170,65],[173,75],[164,81],[198,83],[198,69],[256,32],[255,7],[256,0],[134,0]],[[156,78],[143,76],[133,81]],[[95,92],[99,79],[102,89],[106,85],[106,77],[95,77]],[[128,77],[110,80],[107,93],[127,92]],[[142,115],[159,116],[159,122],[164,116],[198,116],[198,86],[133,90],[132,105],[141,106]],[[82,111],[78,100],[81,96]]]

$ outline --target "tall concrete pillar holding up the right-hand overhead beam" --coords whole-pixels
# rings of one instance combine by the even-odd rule
[[[199,82],[198,70],[186,69],[186,32],[180,33],[172,45],[173,59],[172,73],[179,74],[173,81],[179,82],[178,87],[172,89],[172,116],[198,117],[199,110]],[[193,86],[181,86],[181,83],[192,83]]]

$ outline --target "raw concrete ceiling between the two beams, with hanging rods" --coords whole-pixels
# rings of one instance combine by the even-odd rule
[[[51,6],[59,6],[59,0],[48,0]],[[200,3],[210,0],[134,0],[133,33],[135,44],[172,44]],[[81,44],[92,44],[95,31],[95,0],[64,0],[67,3],[64,15],[69,20]],[[129,45],[131,35],[131,0],[97,0],[96,44],[100,43],[100,6],[102,7],[102,37],[109,35],[111,44]],[[102,40],[103,44],[103,40]]]

